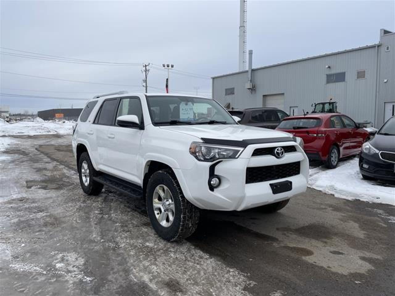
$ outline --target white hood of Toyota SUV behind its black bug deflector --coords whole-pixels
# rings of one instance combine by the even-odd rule
[[[161,129],[175,131],[198,138],[235,140],[292,137],[290,133],[265,129],[262,127],[243,126],[240,124],[205,124],[190,126],[161,126]]]

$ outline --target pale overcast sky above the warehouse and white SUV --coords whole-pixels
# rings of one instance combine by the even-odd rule
[[[0,1],[1,71],[111,86],[1,74],[0,104],[11,112],[83,107],[94,94],[142,92],[141,64],[211,77],[237,71],[239,1]],[[395,30],[395,1],[247,2],[247,49],[253,67],[377,43]],[[9,48],[9,49],[4,49]],[[20,56],[41,54],[109,66]],[[9,54],[19,54],[19,56]],[[149,92],[164,92],[167,72],[151,68]],[[157,88],[157,89],[155,89]],[[211,80],[170,73],[170,90],[211,96]],[[81,98],[41,99],[34,96]]]

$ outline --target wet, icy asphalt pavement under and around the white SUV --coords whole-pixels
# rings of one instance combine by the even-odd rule
[[[308,189],[275,214],[202,213],[167,243],[141,200],[79,187],[71,136],[0,152],[0,295],[395,295],[395,207]]]

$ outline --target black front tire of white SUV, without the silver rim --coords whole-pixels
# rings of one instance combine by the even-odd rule
[[[152,200],[158,185],[165,185],[174,201],[175,215],[169,227],[162,226],[154,213]],[[170,169],[154,172],[147,184],[146,191],[147,213],[156,233],[169,242],[180,241],[195,232],[199,223],[199,208],[191,204],[182,193],[179,182]]]

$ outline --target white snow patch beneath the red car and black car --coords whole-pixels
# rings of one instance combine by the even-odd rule
[[[364,180],[358,158],[339,163],[336,169],[310,169],[308,186],[342,199],[359,199],[395,205],[395,185]]]

